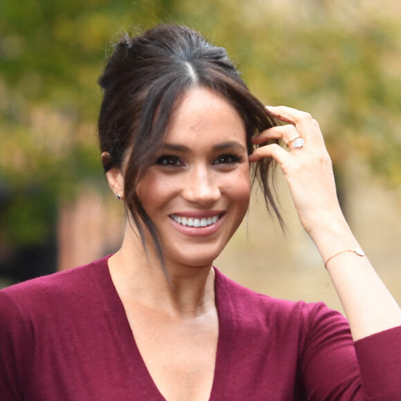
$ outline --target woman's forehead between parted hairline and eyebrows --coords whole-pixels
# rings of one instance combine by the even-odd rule
[[[165,142],[183,140],[245,142],[245,123],[225,97],[208,88],[194,88],[185,93],[165,138]]]

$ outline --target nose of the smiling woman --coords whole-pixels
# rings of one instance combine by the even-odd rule
[[[209,205],[221,196],[218,180],[207,167],[194,167],[189,172],[183,189],[183,197],[199,205]]]

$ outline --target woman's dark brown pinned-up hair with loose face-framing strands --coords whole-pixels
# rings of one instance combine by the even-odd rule
[[[125,205],[138,227],[147,227],[164,266],[158,232],[144,211],[136,187],[154,164],[167,133],[171,115],[190,88],[210,88],[234,106],[245,122],[248,154],[251,138],[275,125],[265,107],[245,85],[224,48],[214,46],[186,26],[162,24],[141,35],[125,34],[109,57],[99,79],[104,96],[98,122],[104,171],[122,167]],[[268,209],[281,216],[274,203],[272,160],[264,158],[253,169]]]

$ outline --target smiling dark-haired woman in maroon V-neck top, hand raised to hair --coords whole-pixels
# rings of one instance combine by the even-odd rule
[[[225,50],[182,26],[124,37],[100,85],[124,241],[0,292],[2,399],[401,399],[401,311],[342,215],[317,122],[265,109]],[[278,214],[274,161],[349,326],[323,304],[258,295],[212,268],[254,179]]]

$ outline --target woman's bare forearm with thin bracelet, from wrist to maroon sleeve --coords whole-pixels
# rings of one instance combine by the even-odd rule
[[[332,219],[310,235],[325,262],[337,252],[360,248],[344,218]],[[330,259],[326,268],[344,307],[354,340],[401,326],[401,309],[368,257],[344,252]]]

